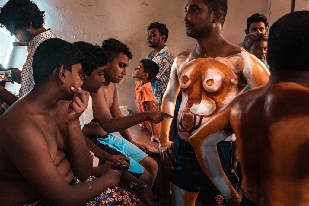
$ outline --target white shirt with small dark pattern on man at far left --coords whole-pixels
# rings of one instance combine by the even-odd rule
[[[32,90],[34,86],[34,79],[33,79],[33,70],[32,70],[32,60],[33,55],[36,51],[36,48],[45,40],[51,38],[59,38],[53,34],[51,29],[47,29],[45,32],[42,32],[36,35],[30,42],[29,42],[29,53],[26,59],[25,64],[23,65],[23,71],[21,74],[21,87],[19,90],[19,98],[23,97],[27,94],[30,90]]]

